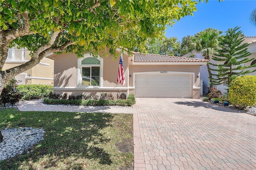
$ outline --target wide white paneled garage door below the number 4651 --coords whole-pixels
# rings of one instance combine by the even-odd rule
[[[135,97],[191,98],[189,74],[135,75]]]

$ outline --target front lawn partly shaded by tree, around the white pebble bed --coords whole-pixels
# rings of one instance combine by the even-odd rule
[[[12,170],[133,169],[132,115],[3,109],[0,128],[44,128],[29,153],[0,162]]]

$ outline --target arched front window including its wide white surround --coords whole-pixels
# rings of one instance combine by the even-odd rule
[[[90,54],[78,59],[78,87],[102,86],[102,62]]]

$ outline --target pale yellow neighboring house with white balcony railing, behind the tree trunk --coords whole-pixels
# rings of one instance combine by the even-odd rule
[[[4,63],[3,70],[21,65],[30,60],[30,51],[26,48],[8,50],[8,57]],[[54,61],[44,57],[39,64],[31,69],[15,76],[19,84],[53,84]]]

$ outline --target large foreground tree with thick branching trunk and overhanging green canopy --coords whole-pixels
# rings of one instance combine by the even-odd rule
[[[207,0],[206,0],[207,1]],[[194,0],[0,0],[0,94],[14,76],[50,53],[96,54],[108,47],[130,52],[166,26],[196,11]],[[2,70],[12,45],[27,47],[30,61]]]

